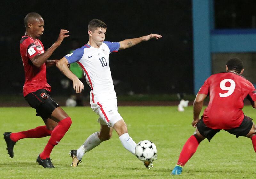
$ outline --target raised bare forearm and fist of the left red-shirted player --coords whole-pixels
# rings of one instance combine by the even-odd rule
[[[44,64],[48,60],[48,58],[52,55],[52,53],[56,50],[56,48],[60,46],[63,39],[69,36],[69,35],[65,35],[68,32],[69,31],[67,30],[61,29],[57,41],[54,44],[52,44],[52,46],[48,48],[48,50],[46,50],[44,53],[38,54],[31,59],[33,65],[39,68],[42,64]]]

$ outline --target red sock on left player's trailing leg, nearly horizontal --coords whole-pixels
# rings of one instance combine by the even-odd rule
[[[10,138],[12,141],[17,142],[22,138],[40,138],[50,136],[52,131],[48,130],[47,127],[38,126],[35,129],[30,129],[28,131],[22,131],[17,133],[11,133]]]

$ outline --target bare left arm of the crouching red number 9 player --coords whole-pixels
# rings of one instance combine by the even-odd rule
[[[196,98],[193,103],[193,111],[194,111],[194,116],[193,116],[193,121],[192,121],[192,126],[196,127],[197,123],[199,121],[199,115],[203,107],[204,99],[207,97],[206,94],[197,94]]]

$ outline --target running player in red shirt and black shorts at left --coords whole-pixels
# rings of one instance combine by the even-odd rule
[[[46,51],[39,40],[44,32],[44,20],[37,13],[29,13],[24,19],[26,33],[20,41],[20,54],[25,71],[23,95],[28,104],[36,109],[45,125],[17,133],[5,132],[4,139],[8,154],[14,156],[15,143],[23,138],[41,138],[51,136],[42,153],[37,158],[38,164],[44,168],[54,168],[50,153],[65,135],[71,125],[71,118],[50,96],[51,86],[46,80],[46,67],[56,65],[58,60],[48,60],[54,50],[68,37],[67,30],[60,30],[57,41]]]

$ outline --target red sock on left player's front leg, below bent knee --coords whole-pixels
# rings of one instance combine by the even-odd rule
[[[53,129],[52,135],[47,145],[44,147],[43,152],[40,154],[41,159],[50,158],[50,153],[52,152],[53,147],[60,142],[65,133],[68,131],[71,123],[71,118],[68,117],[61,120],[59,124]]]

